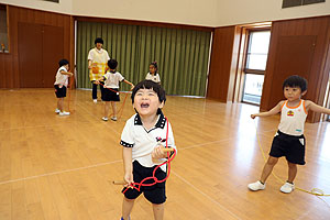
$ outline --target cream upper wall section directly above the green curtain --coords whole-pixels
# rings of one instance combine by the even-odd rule
[[[213,26],[217,0],[73,0],[76,15]]]

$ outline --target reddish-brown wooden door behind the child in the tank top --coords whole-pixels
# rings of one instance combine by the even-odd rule
[[[276,51],[272,100],[274,107],[284,99],[282,85],[290,75],[299,75],[308,80],[316,46],[316,36],[280,36]]]

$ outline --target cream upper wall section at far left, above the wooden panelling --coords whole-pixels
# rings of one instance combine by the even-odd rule
[[[58,12],[64,14],[73,13],[73,0],[59,0],[59,3],[43,0],[0,0],[0,3],[29,9],[38,9],[43,11]]]

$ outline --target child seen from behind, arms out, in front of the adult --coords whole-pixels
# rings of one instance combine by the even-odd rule
[[[112,121],[117,121],[117,107],[116,102],[120,101],[119,97],[119,82],[123,81],[125,84],[131,85],[133,88],[134,85],[124,79],[124,77],[116,70],[118,66],[118,62],[116,59],[109,59],[108,66],[110,68],[109,72],[101,79],[98,79],[96,82],[100,84],[100,80],[105,81],[103,96],[102,100],[106,102],[105,105],[105,116],[102,118],[103,121],[108,121],[109,112],[110,112],[110,103],[112,107],[113,116],[111,117]]]

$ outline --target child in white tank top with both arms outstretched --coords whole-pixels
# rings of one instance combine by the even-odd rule
[[[307,81],[300,76],[290,76],[283,82],[285,101],[279,101],[272,110],[251,114],[255,117],[270,117],[280,112],[278,131],[274,136],[270,157],[264,165],[260,180],[249,184],[250,190],[265,189],[266,179],[271,175],[279,157],[285,156],[288,165],[287,182],[280,187],[280,191],[289,194],[295,189],[294,179],[297,175],[297,164],[305,165],[304,124],[308,110],[330,114],[330,109],[320,107],[312,101],[302,100],[307,92]]]

